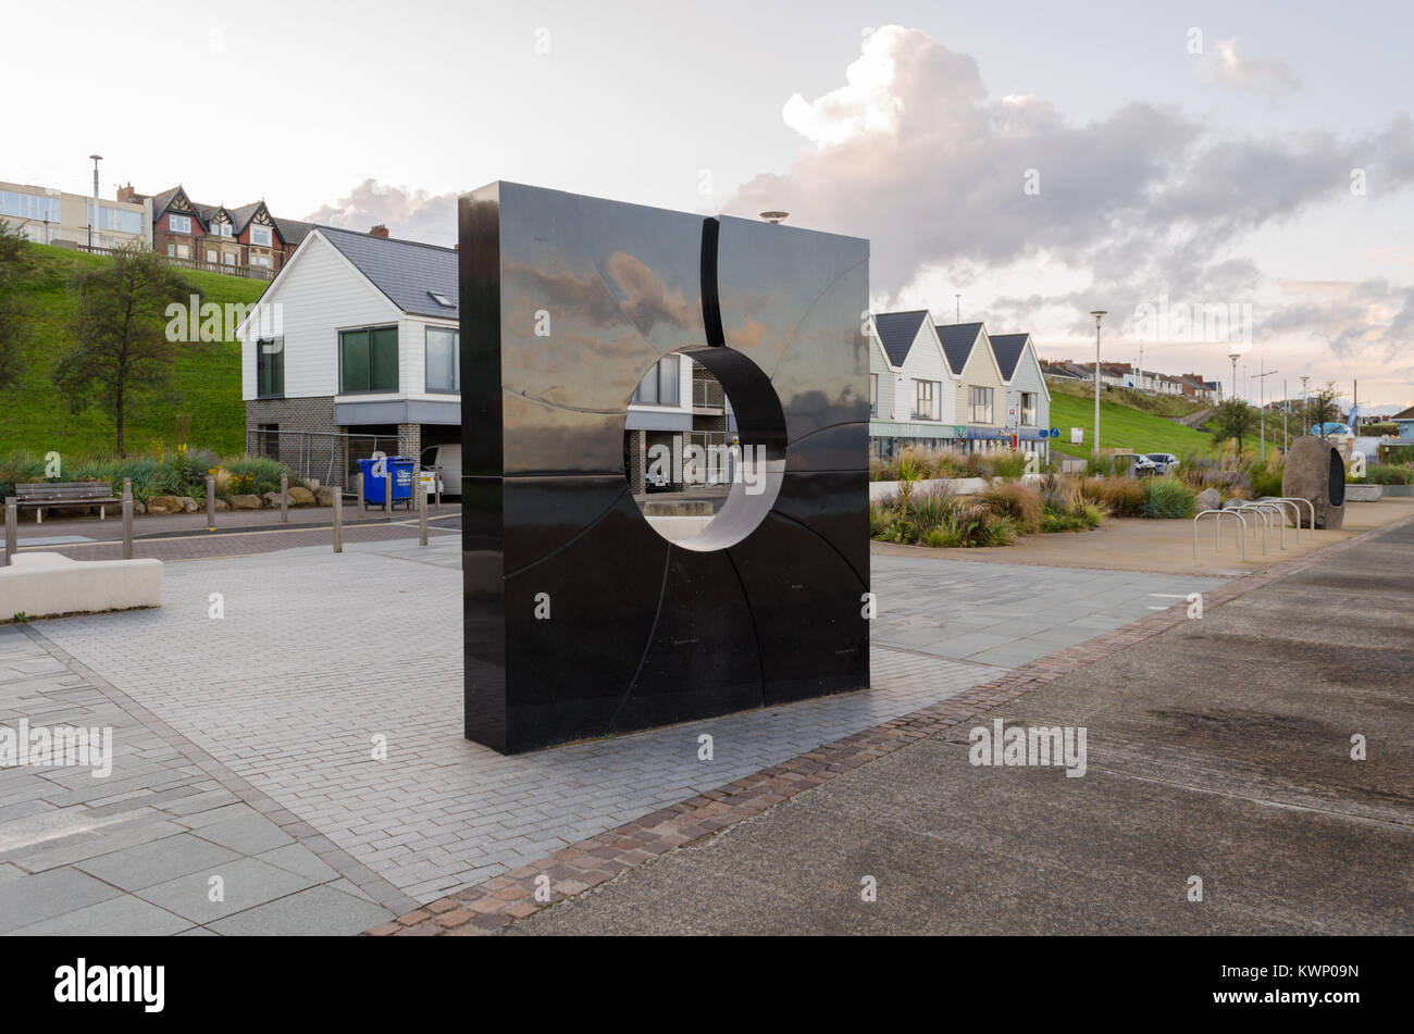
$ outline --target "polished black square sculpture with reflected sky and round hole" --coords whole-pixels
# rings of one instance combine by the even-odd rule
[[[458,218],[467,739],[867,687],[868,242],[508,182]],[[624,459],[635,386],[677,352],[766,470],[689,544]]]

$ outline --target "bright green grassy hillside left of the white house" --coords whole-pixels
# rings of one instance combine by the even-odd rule
[[[24,449],[66,455],[113,452],[113,420],[89,407],[74,415],[54,390],[49,374],[69,347],[68,322],[76,294],[74,274],[112,261],[105,256],[30,246],[35,275],[25,287],[31,340],[24,353],[25,373],[14,388],[0,391],[0,453]],[[204,301],[250,304],[266,288],[262,280],[215,273],[182,274]],[[185,298],[174,301],[185,302]],[[245,404],[240,401],[239,343],[202,345],[177,360],[171,390],[163,397],[141,398],[129,411],[127,451],[146,452],[153,442],[177,442],[177,415],[191,415],[189,442],[218,455],[245,449]]]

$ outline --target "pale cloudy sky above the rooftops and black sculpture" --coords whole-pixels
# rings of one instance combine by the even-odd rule
[[[182,182],[444,243],[493,179],[779,208],[872,242],[878,309],[1079,360],[1103,308],[1106,359],[1143,339],[1227,384],[1236,349],[1240,380],[1278,370],[1267,398],[1305,374],[1414,404],[1407,3],[105,0],[24,25],[3,179],[86,192],[96,150],[105,196]]]

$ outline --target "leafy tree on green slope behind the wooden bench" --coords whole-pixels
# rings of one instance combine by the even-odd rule
[[[74,412],[98,401],[113,418],[117,455],[126,456],[127,414],[143,396],[165,388],[178,345],[167,338],[165,309],[185,302],[187,281],[151,251],[123,249],[112,263],[75,277],[75,345],[54,367],[54,384]]]

